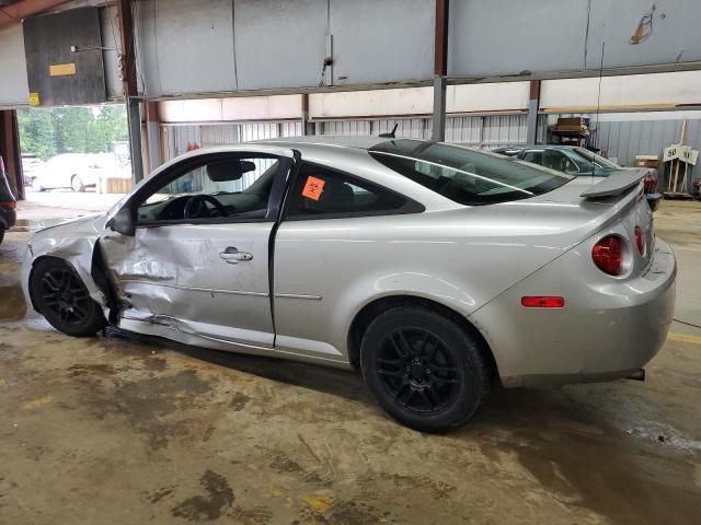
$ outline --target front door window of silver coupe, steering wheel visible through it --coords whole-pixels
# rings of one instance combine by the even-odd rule
[[[185,161],[139,199],[137,225],[264,220],[284,165],[286,160],[264,154]]]

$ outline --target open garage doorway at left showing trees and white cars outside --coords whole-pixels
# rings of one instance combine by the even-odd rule
[[[18,124],[32,208],[104,211],[131,189],[124,105],[23,108]]]

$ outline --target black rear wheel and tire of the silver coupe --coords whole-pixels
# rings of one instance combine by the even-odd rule
[[[399,306],[368,326],[363,377],[402,424],[443,432],[464,424],[486,398],[490,365],[480,343],[455,320],[421,306]]]

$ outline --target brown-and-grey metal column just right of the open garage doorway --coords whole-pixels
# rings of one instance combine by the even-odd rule
[[[119,36],[122,38],[122,78],[129,119],[129,145],[131,151],[131,179],[137,184],[143,178],[141,153],[141,115],[136,84],[136,52],[134,46],[134,15],[131,0],[118,0]]]

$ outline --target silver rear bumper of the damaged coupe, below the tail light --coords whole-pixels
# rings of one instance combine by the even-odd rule
[[[657,240],[643,275],[609,282],[587,282],[581,255],[573,249],[472,314],[505,386],[625,377],[664,345],[676,294],[671,248]],[[516,306],[537,294],[562,295],[565,307]]]

